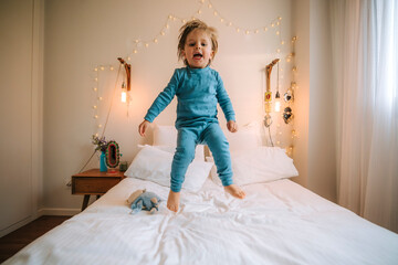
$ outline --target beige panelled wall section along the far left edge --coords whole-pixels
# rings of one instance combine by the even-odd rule
[[[41,205],[41,1],[0,2],[0,236]]]

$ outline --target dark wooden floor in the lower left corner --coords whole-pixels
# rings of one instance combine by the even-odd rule
[[[0,263],[71,216],[43,215],[0,239]]]

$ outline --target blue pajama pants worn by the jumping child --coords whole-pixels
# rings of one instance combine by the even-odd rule
[[[171,186],[174,192],[181,190],[188,166],[195,158],[198,144],[208,145],[213,155],[217,173],[222,186],[232,184],[232,166],[229,144],[218,123],[206,123],[197,127],[178,129],[177,148],[171,165]]]

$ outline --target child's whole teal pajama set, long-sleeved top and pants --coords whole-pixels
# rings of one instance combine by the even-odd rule
[[[177,68],[169,84],[148,109],[145,119],[153,123],[175,96],[178,99],[176,120],[178,137],[171,165],[170,189],[174,192],[181,190],[198,144],[208,145],[210,148],[222,184],[232,184],[229,144],[217,119],[217,104],[220,104],[228,121],[235,120],[235,117],[219,73],[209,66]]]

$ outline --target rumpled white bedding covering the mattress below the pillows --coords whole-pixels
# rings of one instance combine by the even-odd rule
[[[144,188],[165,201],[132,215],[125,200]],[[172,213],[168,188],[127,178],[4,264],[398,264],[397,234],[290,180],[244,190],[209,179]]]

